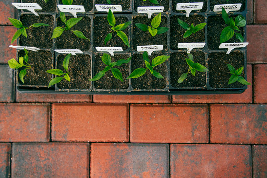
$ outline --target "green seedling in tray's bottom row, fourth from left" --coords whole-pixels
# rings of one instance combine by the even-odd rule
[[[145,51],[143,53],[143,59],[144,59],[144,62],[145,62],[145,66],[146,66],[146,69],[145,68],[138,68],[138,69],[135,69],[130,75],[129,77],[127,77],[127,79],[130,79],[130,78],[138,78],[138,77],[141,77],[142,75],[144,75],[147,71],[147,69],[150,70],[150,73],[152,75],[154,75],[155,77],[159,78],[159,79],[162,79],[163,76],[155,71],[153,69],[153,67],[156,67],[157,65],[160,65],[162,64],[163,62],[165,62],[167,59],[169,59],[170,56],[158,56],[158,57],[155,57],[153,60],[152,60],[152,63],[150,64],[149,63],[149,59],[148,59],[148,53]]]

